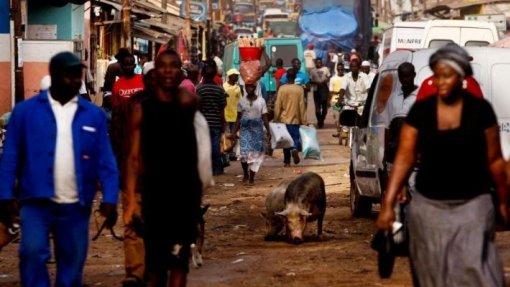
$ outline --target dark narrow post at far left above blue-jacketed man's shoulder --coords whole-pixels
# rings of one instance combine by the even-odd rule
[[[21,0],[12,0],[11,17],[14,22],[14,101],[25,100],[25,85],[23,77],[23,27],[21,23]]]

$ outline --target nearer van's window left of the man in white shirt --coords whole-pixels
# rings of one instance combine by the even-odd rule
[[[375,88],[375,98],[372,104],[371,125],[384,124],[385,110],[388,105],[388,99],[392,93],[396,93],[400,89],[397,70],[383,71]]]

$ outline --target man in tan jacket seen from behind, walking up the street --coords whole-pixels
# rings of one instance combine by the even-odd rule
[[[300,162],[298,152],[301,142],[299,126],[306,125],[304,92],[300,86],[294,84],[296,74],[295,69],[287,71],[289,82],[278,89],[274,111],[275,121],[287,125],[287,130],[294,141],[294,147],[283,149],[283,164],[285,167],[290,166],[291,155],[294,159],[294,164]]]

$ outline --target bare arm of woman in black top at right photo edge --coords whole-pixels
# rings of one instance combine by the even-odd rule
[[[507,225],[509,223],[507,205],[508,185],[505,171],[506,163],[501,152],[498,125],[494,125],[485,130],[485,139],[487,141],[487,162],[499,199],[499,213],[503,218],[503,223]]]

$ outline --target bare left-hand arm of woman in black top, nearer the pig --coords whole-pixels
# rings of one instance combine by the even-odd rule
[[[382,200],[381,212],[376,222],[378,229],[390,230],[391,224],[395,220],[393,205],[416,161],[417,140],[418,130],[413,126],[404,124],[400,133],[397,155],[391,169],[386,193]]]

